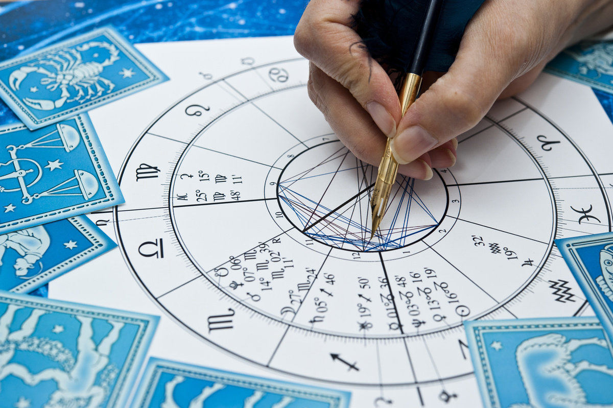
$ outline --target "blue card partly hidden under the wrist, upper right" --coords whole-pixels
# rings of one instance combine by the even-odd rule
[[[566,48],[545,71],[613,93],[613,42],[584,41]]]

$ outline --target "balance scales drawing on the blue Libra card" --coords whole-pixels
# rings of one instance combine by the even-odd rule
[[[10,193],[21,191],[23,197],[21,197],[21,203],[31,204],[37,198],[53,197],[53,196],[66,196],[66,195],[78,195],[82,196],[85,200],[93,197],[98,191],[98,181],[94,175],[85,172],[85,170],[74,170],[74,176],[61,181],[61,183],[53,186],[46,191],[40,191],[31,193],[28,191],[30,187],[38,183],[43,176],[42,167],[34,159],[28,159],[25,157],[17,157],[19,151],[26,151],[26,149],[64,149],[66,153],[70,153],[80,143],[81,135],[72,126],[67,124],[56,124],[56,129],[48,134],[32,140],[25,145],[9,145],[6,146],[7,151],[10,154],[10,160],[6,163],[0,162],[0,168],[4,166],[12,166],[13,172],[4,173],[0,172],[0,183],[10,183],[11,179],[17,181],[14,186],[8,186],[0,184],[0,192]],[[52,172],[55,168],[61,168],[63,163],[59,162],[59,159],[55,161],[48,161],[49,168]]]

